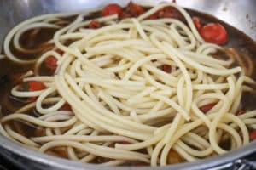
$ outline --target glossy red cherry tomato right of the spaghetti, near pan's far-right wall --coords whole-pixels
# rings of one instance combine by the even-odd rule
[[[199,32],[206,42],[224,44],[228,41],[227,31],[218,23],[208,23],[206,26],[201,27]]]

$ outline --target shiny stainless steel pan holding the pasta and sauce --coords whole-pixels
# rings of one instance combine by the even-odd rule
[[[108,3],[125,5],[129,0],[0,0],[0,47],[3,38],[12,26],[21,20],[26,20],[38,14],[55,13],[61,11],[74,11],[91,8],[101,8]],[[159,3],[156,0],[134,1],[135,3],[151,4]],[[231,26],[245,32],[256,41],[256,1],[255,0],[177,0],[177,3],[186,8],[193,8],[224,20]],[[256,56],[255,56],[256,57]],[[1,66],[1,61],[0,61]],[[3,66],[3,65],[2,65]],[[1,96],[1,94],[0,94]],[[215,156],[201,161],[171,165],[167,167],[101,167],[98,165],[84,164],[77,161],[68,161],[54,156],[48,156],[35,150],[16,144],[0,135],[0,155],[9,158],[13,163],[24,169],[93,169],[93,170],[167,170],[167,169],[222,169],[234,167],[239,164],[242,167],[254,166],[256,161],[241,160],[243,156],[256,154],[256,142],[230,151],[222,156]]]

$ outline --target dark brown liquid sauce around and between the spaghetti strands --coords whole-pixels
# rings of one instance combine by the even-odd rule
[[[189,11],[189,14],[191,16],[199,17],[201,19],[202,24],[206,24],[209,22],[218,22],[222,26],[224,26],[226,31],[228,31],[228,35],[229,35],[229,42],[225,45],[225,47],[226,48],[229,48],[229,47],[235,48],[239,54],[248,55],[252,59],[253,64],[256,64],[256,43],[252,39],[250,39],[250,37],[247,37],[247,35],[245,35],[243,32],[238,31],[236,28],[224,23],[223,21],[212,17],[212,15],[199,13],[199,12],[196,12],[195,10],[190,10],[190,9],[187,9],[187,11]],[[99,13],[92,14],[90,16],[86,16],[86,18],[84,20],[90,20],[91,18],[94,18],[98,15],[99,15]],[[74,17],[69,17],[65,20],[70,22],[70,21],[74,20]],[[63,26],[65,26],[65,24]],[[38,48],[41,46],[41,44],[43,42],[46,42],[49,39],[51,39],[51,37],[53,36],[54,33],[55,33],[55,29],[44,29],[44,28],[42,28],[38,32],[36,32],[35,35],[32,35],[32,31],[27,31],[24,35],[21,36],[20,44],[22,45],[22,47],[28,48],[28,49],[29,48]],[[40,56],[41,54],[43,54],[45,51],[47,51],[49,48],[52,48],[52,47],[51,46],[43,47],[43,50],[39,51],[36,54],[21,54],[21,53],[15,51],[13,47],[11,47],[11,48],[12,48],[13,53],[20,56],[20,58],[33,59],[33,58],[37,58],[38,56]],[[26,73],[26,71],[32,70],[34,65],[20,65],[20,64],[11,62],[8,59],[1,59],[0,65],[2,65],[0,68],[0,95],[1,95],[0,117],[1,117],[1,116],[5,116],[5,115],[9,115],[9,114],[13,113],[14,111],[18,110],[21,106],[24,105],[24,103],[18,101],[17,99],[14,99],[14,97],[12,97],[10,95],[10,90],[15,85],[17,85],[21,82],[20,76],[22,74]],[[49,74],[49,72],[44,71],[44,66],[43,66],[43,70],[41,72],[43,75]],[[253,74],[251,77],[253,77],[253,79],[256,80],[256,71],[253,70]],[[253,88],[256,88],[256,87],[253,87]],[[256,105],[254,105],[254,103],[256,101],[255,94],[244,93],[242,95],[241,100],[242,100],[242,108],[243,109],[245,109],[245,110],[256,109]],[[32,109],[31,111],[27,111],[27,114],[31,114],[33,116],[37,115],[37,113],[36,113],[36,111],[34,111],[34,109]],[[29,123],[24,123],[24,122],[20,123],[18,121],[12,121],[10,123],[10,125],[12,126],[12,128],[14,128],[14,130],[16,132],[18,132],[26,137],[42,136],[45,133],[43,128],[36,127]],[[221,145],[223,146],[223,148],[229,149],[230,141],[226,141],[225,144],[221,144]],[[63,148],[61,148],[61,147],[55,148],[54,150],[51,150],[51,151],[53,151],[54,155],[56,155],[56,156],[67,157],[67,150],[63,150]],[[51,154],[53,154],[53,153],[51,153]],[[107,158],[99,157],[99,159],[97,159],[96,161],[101,162],[102,159],[104,162],[104,159],[107,159]],[[131,164],[131,162],[130,162],[130,164]]]

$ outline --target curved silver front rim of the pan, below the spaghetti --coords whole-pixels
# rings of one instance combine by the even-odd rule
[[[3,135],[0,135],[0,148],[1,150],[9,150],[12,154],[16,156],[21,156],[28,161],[33,161],[41,164],[42,166],[55,167],[58,169],[101,169],[101,170],[135,170],[137,168],[141,170],[166,170],[166,169],[183,169],[183,170],[196,170],[196,169],[206,169],[212,167],[219,166],[232,166],[233,163],[244,156],[248,156],[249,154],[256,151],[256,141],[253,141],[250,144],[242,146],[236,150],[230,150],[224,155],[213,156],[209,158],[205,158],[202,160],[194,161],[194,162],[185,162],[174,165],[168,165],[165,167],[102,167],[101,165],[83,163],[79,161],[67,160],[64,158],[50,156],[44,153],[40,153],[38,150],[32,150],[27,148],[24,145],[21,145],[15,141],[12,141]],[[19,161],[19,160],[17,160]]]

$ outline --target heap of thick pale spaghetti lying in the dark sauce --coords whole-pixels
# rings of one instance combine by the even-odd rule
[[[148,19],[166,7],[176,8],[185,22]],[[34,75],[23,82],[43,85],[32,91],[22,91],[20,85],[12,89],[15,97],[34,100],[1,118],[4,136],[42,152],[61,147],[72,160],[103,157],[102,164],[108,166],[127,161],[164,166],[172,162],[168,156],[173,151],[196,161],[249,143],[256,111],[236,113],[242,92],[253,91],[255,82],[248,77],[253,66],[234,66],[233,51],[229,59],[216,57],[226,49],[205,42],[183,8],[162,3],[137,18],[108,15],[96,19],[101,25],[97,29],[88,28],[86,15],[77,14],[68,24],[65,17],[74,14],[42,15],[9,31],[6,57],[20,64],[36,62]],[[12,54],[12,40],[21,51],[40,50],[22,48],[19,39],[42,27],[57,30],[47,42],[54,48],[39,59]],[[40,67],[49,56],[56,60],[55,74],[42,76]],[[61,110],[67,104],[71,109]],[[32,108],[38,116],[26,114]],[[15,132],[9,123],[13,121],[32,123],[44,135]],[[230,149],[221,146],[223,141],[230,141]]]

